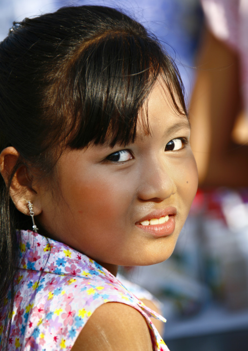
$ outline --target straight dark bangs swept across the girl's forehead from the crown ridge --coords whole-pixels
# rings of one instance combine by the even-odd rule
[[[88,42],[75,56],[68,71],[73,89],[65,94],[70,102],[67,145],[71,148],[91,142],[110,146],[133,143],[139,111],[160,74],[181,112],[184,98],[179,107],[174,97],[181,84],[177,74],[171,77],[175,68],[154,39],[109,32]],[[142,116],[139,123],[148,134],[147,114]]]

